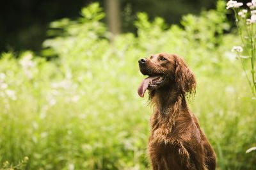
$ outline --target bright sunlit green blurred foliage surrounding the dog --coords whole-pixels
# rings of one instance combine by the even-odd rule
[[[98,3],[77,20],[51,23],[38,57],[13,52],[0,60],[0,163],[28,157],[24,169],[148,169],[147,97],[136,89],[138,59],[156,52],[184,56],[198,87],[190,104],[218,157],[219,169],[253,169],[256,100],[230,52],[239,38],[228,30],[225,4],[186,15],[182,27],[138,13],[132,33],[109,33]],[[58,56],[47,61],[48,56]]]

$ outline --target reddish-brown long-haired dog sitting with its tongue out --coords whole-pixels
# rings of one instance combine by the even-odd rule
[[[195,93],[195,75],[174,54],[156,54],[139,60],[148,78],[138,88],[140,97],[148,89],[154,113],[148,153],[153,169],[215,169],[216,155],[186,104]]]

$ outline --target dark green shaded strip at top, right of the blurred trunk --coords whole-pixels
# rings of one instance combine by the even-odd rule
[[[182,15],[198,14],[202,10],[213,9],[215,6],[216,1],[213,0],[120,0],[122,30],[124,32],[136,31],[132,22],[136,20],[136,13],[138,12],[148,13],[149,20],[153,20],[157,16],[166,20],[167,24],[179,24]]]

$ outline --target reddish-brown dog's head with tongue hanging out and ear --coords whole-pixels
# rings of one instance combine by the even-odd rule
[[[179,93],[186,95],[195,91],[195,75],[189,70],[184,59],[175,54],[159,53],[139,61],[140,72],[148,75],[138,88],[140,97],[148,89],[154,91],[175,83]]]

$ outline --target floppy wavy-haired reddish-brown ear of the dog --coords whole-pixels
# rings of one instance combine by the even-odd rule
[[[175,83],[177,89],[186,94],[195,94],[196,79],[194,73],[188,68],[184,59],[174,56]]]

